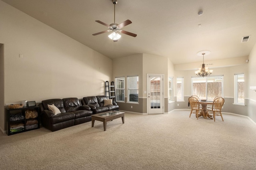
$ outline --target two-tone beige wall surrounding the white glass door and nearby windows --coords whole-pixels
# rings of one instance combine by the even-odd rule
[[[126,103],[125,99],[125,103],[118,102],[120,110],[147,113],[147,94],[144,93],[144,91],[147,91],[147,74],[164,75],[164,97],[167,98],[169,73],[174,76],[173,65],[167,57],[138,54],[113,59],[113,80],[120,76],[124,76],[126,79],[128,75],[139,75],[139,104]],[[126,88],[125,93],[127,94]],[[165,105],[164,112],[168,112],[168,105]]]

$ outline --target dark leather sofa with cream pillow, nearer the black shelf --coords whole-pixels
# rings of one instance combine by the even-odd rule
[[[60,114],[54,113],[48,109],[48,105],[56,106]],[[78,98],[48,99],[40,103],[41,122],[43,127],[51,131],[71,127],[92,120],[92,110],[88,105],[81,105]]]

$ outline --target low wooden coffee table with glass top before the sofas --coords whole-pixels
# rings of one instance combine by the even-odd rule
[[[122,121],[124,123],[124,112],[120,111],[108,111],[103,113],[97,113],[92,115],[92,127],[94,127],[94,121],[101,121],[104,125],[104,131],[106,131],[107,128],[107,122],[112,121],[114,119],[122,117]]]

